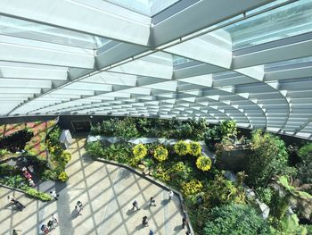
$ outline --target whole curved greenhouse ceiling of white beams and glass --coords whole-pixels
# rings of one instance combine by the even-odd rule
[[[233,119],[312,139],[311,0],[1,0],[0,115]]]

